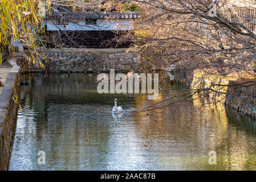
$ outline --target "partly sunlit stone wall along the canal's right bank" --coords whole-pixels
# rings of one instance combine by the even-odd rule
[[[210,90],[202,92],[204,96],[209,96],[209,102],[220,102],[237,110],[238,113],[248,115],[256,119],[256,85],[243,87],[239,89],[237,86],[211,86],[214,84],[231,85],[239,81],[231,78],[226,78],[217,75],[211,75],[202,70],[194,70],[189,74],[185,74],[184,70],[176,69],[173,71],[174,80],[179,80],[182,83],[189,85],[192,89],[212,88],[217,92]],[[219,93],[218,93],[219,92]],[[232,94],[224,94],[232,93]],[[197,98],[195,96],[195,98]]]

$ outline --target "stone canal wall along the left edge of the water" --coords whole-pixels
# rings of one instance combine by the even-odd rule
[[[0,96],[0,170],[7,170],[17,122],[19,99],[19,73],[10,72]]]

